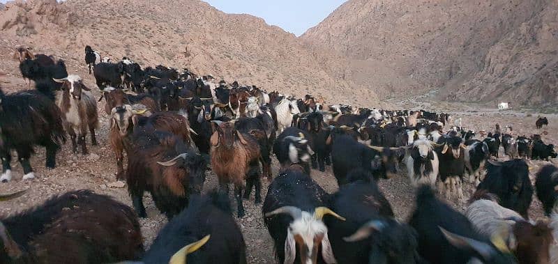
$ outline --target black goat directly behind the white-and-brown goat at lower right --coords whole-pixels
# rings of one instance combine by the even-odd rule
[[[533,187],[529,180],[529,166],[525,160],[496,162],[489,160],[484,180],[477,190],[485,189],[500,198],[500,205],[528,218],[527,210],[531,205]]]

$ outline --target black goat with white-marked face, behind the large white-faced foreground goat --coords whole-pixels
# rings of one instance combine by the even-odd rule
[[[292,164],[300,164],[304,172],[310,175],[310,156],[314,154],[308,133],[296,127],[287,127],[283,130],[273,144],[273,153],[281,166],[280,171],[285,171]]]

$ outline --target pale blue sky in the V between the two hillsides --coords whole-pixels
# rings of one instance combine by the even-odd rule
[[[95,0],[91,0],[95,1]],[[267,24],[301,36],[347,0],[204,0],[225,13],[262,17]],[[6,0],[0,0],[6,3]]]

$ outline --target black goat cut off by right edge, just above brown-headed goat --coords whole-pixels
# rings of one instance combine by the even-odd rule
[[[536,173],[535,190],[538,200],[543,203],[546,215],[550,215],[558,198],[558,168],[546,165]]]

